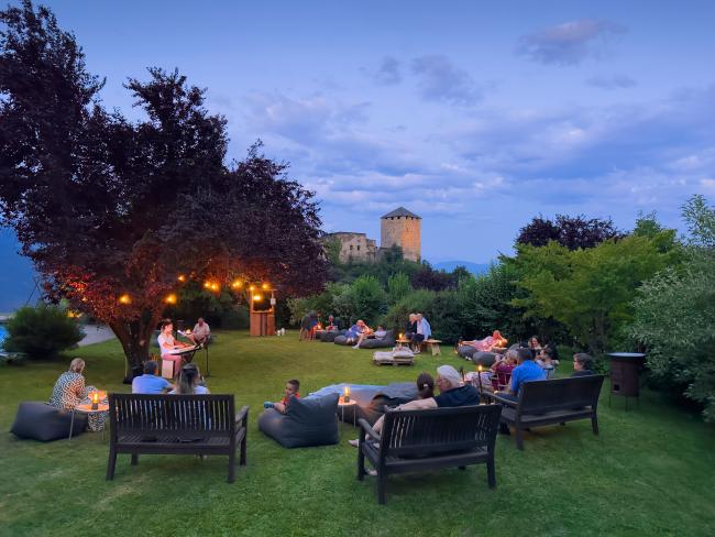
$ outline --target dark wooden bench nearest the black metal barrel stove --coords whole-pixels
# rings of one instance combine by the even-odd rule
[[[598,434],[598,396],[603,375],[574,376],[552,381],[527,382],[521,385],[518,402],[494,394],[504,405],[502,423],[515,429],[516,447],[524,449],[524,430],[544,425],[591,419]]]

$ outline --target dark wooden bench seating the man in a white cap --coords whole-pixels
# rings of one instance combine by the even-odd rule
[[[501,412],[499,405],[387,409],[381,434],[367,420],[360,419],[358,480],[365,476],[367,458],[377,471],[377,502],[384,504],[389,474],[448,467],[464,470],[469,464],[483,462],[493,489],[496,486],[494,445]]]

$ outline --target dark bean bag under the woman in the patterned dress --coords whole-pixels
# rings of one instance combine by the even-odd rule
[[[61,410],[54,406],[35,401],[24,401],[18,407],[15,421],[10,432],[20,438],[30,438],[48,442],[69,437],[72,412]],[[87,415],[75,413],[75,425],[72,436],[80,435],[87,428]]]

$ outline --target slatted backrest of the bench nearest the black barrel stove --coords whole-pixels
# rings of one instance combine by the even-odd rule
[[[532,414],[591,406],[595,410],[603,375],[573,376],[521,385],[517,413]]]

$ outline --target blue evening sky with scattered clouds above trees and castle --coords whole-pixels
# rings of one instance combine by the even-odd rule
[[[378,239],[406,207],[431,262],[509,253],[538,215],[682,229],[715,198],[712,1],[46,4],[106,107],[139,118],[127,78],[178,68],[228,119],[228,158],[263,140],[326,231]]]

